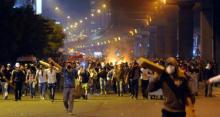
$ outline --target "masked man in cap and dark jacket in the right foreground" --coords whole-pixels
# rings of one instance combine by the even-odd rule
[[[165,97],[162,117],[185,117],[186,102],[194,103],[195,100],[188,86],[188,79],[178,67],[177,60],[173,57],[167,59],[165,71],[161,74],[156,74],[150,80],[148,89],[150,92],[160,88]]]

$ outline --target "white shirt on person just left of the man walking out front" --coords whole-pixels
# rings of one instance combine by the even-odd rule
[[[56,79],[56,74],[57,74],[57,70],[56,69],[52,69],[52,72],[50,69],[46,69],[45,73],[47,75],[47,83],[51,84],[51,83],[56,83],[57,79]]]

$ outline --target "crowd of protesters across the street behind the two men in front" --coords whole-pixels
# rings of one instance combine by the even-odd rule
[[[166,66],[163,59],[151,59],[157,64]],[[199,82],[205,84],[205,96],[212,96],[212,85],[207,80],[217,75],[217,65],[214,62],[202,63],[200,59],[180,60],[178,66],[185,71],[189,79],[194,95],[198,95]],[[48,61],[49,63],[51,61]],[[68,66],[66,66],[68,63]],[[3,99],[8,99],[9,93],[14,93],[15,101],[21,100],[22,96],[54,101],[56,90],[63,90],[68,86],[65,82],[65,68],[74,70],[72,74],[75,81],[75,95],[88,99],[88,95],[128,94],[132,99],[138,99],[139,88],[142,98],[148,99],[149,80],[155,72],[141,66],[137,61],[130,63],[104,63],[98,61],[72,61],[49,66],[43,64],[1,65],[0,81]],[[66,84],[65,84],[66,83]],[[139,84],[140,83],[140,84]],[[141,86],[141,87],[139,87]],[[39,93],[36,93],[39,92]],[[48,92],[48,96],[47,96]]]

